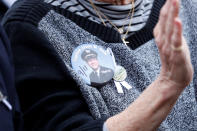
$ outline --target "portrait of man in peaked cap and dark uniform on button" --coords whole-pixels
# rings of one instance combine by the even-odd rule
[[[99,86],[113,78],[113,70],[100,65],[98,61],[98,54],[95,51],[85,49],[81,54],[81,58],[93,70],[89,75],[91,85]]]

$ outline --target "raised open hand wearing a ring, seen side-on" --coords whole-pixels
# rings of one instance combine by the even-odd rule
[[[193,68],[178,14],[179,0],[167,0],[161,9],[154,36],[162,63],[160,77],[184,88],[192,80]]]

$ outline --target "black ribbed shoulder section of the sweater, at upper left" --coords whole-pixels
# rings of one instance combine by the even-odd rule
[[[13,21],[37,24],[50,8],[51,6],[44,0],[18,0],[6,12],[2,24],[5,25]]]

